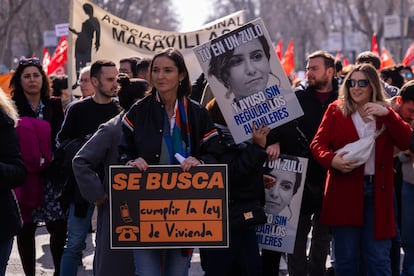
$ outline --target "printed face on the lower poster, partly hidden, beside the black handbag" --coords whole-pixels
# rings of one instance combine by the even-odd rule
[[[290,201],[294,194],[296,173],[290,171],[273,170],[272,174],[276,183],[265,188],[265,209],[271,214],[279,214]]]

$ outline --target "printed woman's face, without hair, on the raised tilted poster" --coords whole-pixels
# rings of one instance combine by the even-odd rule
[[[236,100],[266,88],[270,63],[258,39],[242,43],[234,50],[229,73],[229,87]]]

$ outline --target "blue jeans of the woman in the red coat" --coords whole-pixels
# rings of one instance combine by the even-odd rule
[[[374,185],[364,183],[364,225],[332,227],[335,276],[391,275],[391,239],[374,239]]]

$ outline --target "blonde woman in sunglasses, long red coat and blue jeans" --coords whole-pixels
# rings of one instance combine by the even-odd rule
[[[335,153],[383,127],[366,163]],[[410,126],[387,106],[375,68],[353,67],[311,143],[315,159],[328,169],[321,222],[332,226],[335,275],[391,275],[393,150],[408,149],[410,136]]]

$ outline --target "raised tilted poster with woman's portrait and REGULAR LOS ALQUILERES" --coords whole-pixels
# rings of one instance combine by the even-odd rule
[[[254,121],[274,128],[303,115],[260,18],[194,52],[236,143]]]

